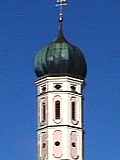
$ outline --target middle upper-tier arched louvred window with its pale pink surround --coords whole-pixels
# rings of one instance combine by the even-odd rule
[[[62,100],[60,96],[55,96],[53,99],[53,120],[55,123],[62,121]]]

